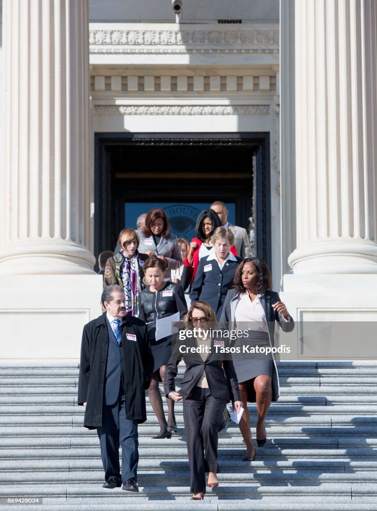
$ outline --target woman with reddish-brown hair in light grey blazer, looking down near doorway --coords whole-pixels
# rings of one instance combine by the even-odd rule
[[[176,270],[182,264],[177,237],[169,234],[169,220],[160,207],[154,207],[148,212],[145,226],[137,231],[140,237],[138,251],[149,257],[156,256],[167,264],[165,281],[171,280],[171,270]]]

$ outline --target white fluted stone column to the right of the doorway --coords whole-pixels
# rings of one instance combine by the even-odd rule
[[[375,0],[296,0],[294,273],[377,273]]]

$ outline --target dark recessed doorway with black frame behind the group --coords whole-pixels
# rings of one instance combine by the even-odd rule
[[[268,133],[97,133],[95,144],[96,255],[150,207],[164,204],[190,237],[196,211],[222,200],[271,264]]]

